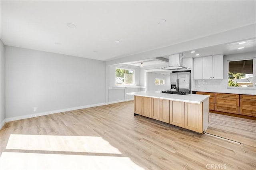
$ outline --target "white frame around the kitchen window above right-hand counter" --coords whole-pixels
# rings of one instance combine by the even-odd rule
[[[253,63],[252,63],[252,75],[253,75],[253,82],[252,82],[252,87],[234,87],[234,86],[228,86],[228,72],[229,72],[229,62],[230,61],[242,61],[242,60],[253,60]],[[227,62],[227,69],[228,69],[228,72],[227,72],[227,88],[228,89],[256,89],[256,57],[253,57],[253,58],[245,58],[245,59],[234,59],[234,60],[228,60]]]

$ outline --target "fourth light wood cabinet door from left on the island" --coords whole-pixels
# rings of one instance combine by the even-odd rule
[[[170,100],[160,99],[160,121],[170,123]]]

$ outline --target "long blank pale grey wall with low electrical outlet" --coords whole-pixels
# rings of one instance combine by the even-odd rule
[[[105,67],[105,61],[6,46],[6,118],[105,103]]]

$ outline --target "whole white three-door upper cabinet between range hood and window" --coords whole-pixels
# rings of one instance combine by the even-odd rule
[[[194,80],[223,79],[223,55],[194,58]]]

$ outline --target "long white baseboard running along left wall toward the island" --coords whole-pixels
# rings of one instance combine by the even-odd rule
[[[97,104],[93,104],[93,105],[85,105],[85,106],[79,106],[79,107],[70,107],[70,108],[66,108],[66,109],[60,109],[60,110],[54,110],[54,111],[48,111],[48,112],[42,112],[42,113],[35,113],[35,114],[30,114],[30,115],[23,115],[23,116],[17,116],[17,117],[9,117],[9,118],[4,119],[1,122],[1,128],[4,126],[4,123],[10,122],[10,121],[17,121],[17,120],[20,120],[20,119],[28,119],[28,118],[32,118],[32,117],[51,115],[51,114],[54,114],[54,113],[60,113],[60,112],[66,112],[66,111],[74,111],[74,110],[78,110],[78,109],[85,109],[85,108],[88,108],[88,107],[96,107],[96,106],[108,105],[108,104],[113,104],[113,103],[120,103],[120,102],[131,101],[131,100],[133,100],[133,99],[125,99],[125,100],[120,100],[120,101],[111,101],[109,103],[97,103]]]

